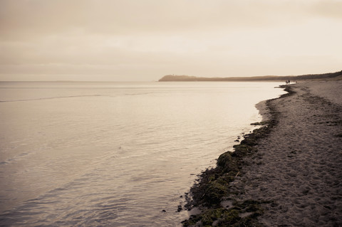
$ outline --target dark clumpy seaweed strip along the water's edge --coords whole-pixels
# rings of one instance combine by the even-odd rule
[[[283,85],[287,92],[276,100],[293,95],[289,85]],[[232,208],[222,208],[220,202],[229,198],[229,194],[241,194],[242,191],[229,189],[229,183],[234,181],[237,175],[241,175],[244,166],[244,157],[257,152],[255,147],[259,139],[267,137],[271,130],[278,124],[279,112],[276,107],[271,105],[271,100],[266,101],[266,107],[271,115],[270,120],[262,122],[264,125],[252,133],[244,136],[240,144],[234,146],[234,152],[225,152],[217,159],[217,167],[206,169],[199,175],[197,182],[190,189],[190,194],[186,194],[187,204],[185,208],[191,210],[200,207],[202,212],[190,216],[189,219],[182,221],[183,226],[195,226],[202,223],[203,226],[263,226],[258,223],[257,216],[263,213],[261,204],[271,203],[272,201],[234,201]],[[240,217],[239,213],[252,213],[246,217]]]

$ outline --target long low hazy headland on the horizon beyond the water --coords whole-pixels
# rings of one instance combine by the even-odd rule
[[[264,75],[252,77],[229,77],[229,78],[201,78],[190,75],[165,75],[160,82],[165,81],[262,81],[262,80],[317,80],[317,79],[342,79],[342,70],[336,73],[309,74],[309,75]]]

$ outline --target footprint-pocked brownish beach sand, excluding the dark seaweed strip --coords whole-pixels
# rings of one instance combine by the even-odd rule
[[[268,201],[265,226],[342,226],[342,81],[289,86],[293,95],[268,101],[279,122],[244,157],[233,199]]]

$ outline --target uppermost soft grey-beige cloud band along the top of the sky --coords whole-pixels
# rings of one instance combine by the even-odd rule
[[[21,39],[73,31],[128,35],[187,33],[298,22],[308,14],[338,14],[328,1],[1,1],[1,38]],[[301,4],[300,4],[301,3]],[[312,8],[312,9],[311,9]]]

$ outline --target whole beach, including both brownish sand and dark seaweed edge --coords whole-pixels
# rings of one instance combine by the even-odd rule
[[[259,103],[264,126],[199,176],[186,208],[202,213],[183,225],[342,225],[342,105],[333,97],[342,83],[332,84],[283,85],[288,93],[266,100],[267,112]]]

